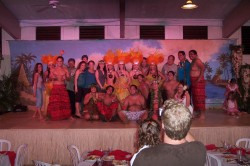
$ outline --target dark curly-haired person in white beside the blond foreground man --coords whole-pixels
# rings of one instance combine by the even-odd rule
[[[158,122],[154,120],[143,121],[138,130],[138,152],[135,153],[130,160],[130,165],[133,165],[134,160],[141,150],[158,145],[161,143],[160,138],[161,127]]]

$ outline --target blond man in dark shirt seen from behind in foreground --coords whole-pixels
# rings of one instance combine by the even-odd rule
[[[180,103],[165,101],[161,113],[164,137],[162,144],[143,149],[133,166],[203,166],[206,149],[188,134],[192,115]]]

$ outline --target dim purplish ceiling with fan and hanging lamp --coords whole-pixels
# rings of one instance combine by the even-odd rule
[[[46,20],[120,18],[120,1],[123,0],[59,0],[60,5],[56,9],[49,6],[48,0],[0,1],[18,20]],[[124,1],[125,18],[221,20],[241,2],[241,0],[193,0],[199,7],[195,10],[183,10],[180,7],[186,0]]]

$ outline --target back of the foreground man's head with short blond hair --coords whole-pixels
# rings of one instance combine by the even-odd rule
[[[192,114],[183,104],[175,100],[166,100],[161,119],[165,134],[172,140],[181,140],[190,129]]]

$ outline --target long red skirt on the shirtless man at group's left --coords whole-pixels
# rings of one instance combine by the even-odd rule
[[[53,85],[49,97],[48,116],[51,120],[68,119],[71,116],[69,95],[65,85]]]

